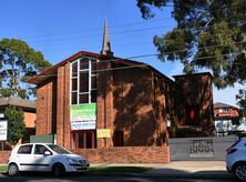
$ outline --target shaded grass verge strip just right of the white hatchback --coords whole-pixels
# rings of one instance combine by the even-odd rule
[[[147,166],[90,166],[89,173],[143,173],[151,168]]]

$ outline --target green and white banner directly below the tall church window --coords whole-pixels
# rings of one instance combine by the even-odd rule
[[[89,103],[83,105],[71,105],[71,121],[95,121],[96,105]]]

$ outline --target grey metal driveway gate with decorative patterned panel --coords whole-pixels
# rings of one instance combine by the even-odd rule
[[[226,149],[237,139],[236,135],[170,139],[171,161],[224,161]]]

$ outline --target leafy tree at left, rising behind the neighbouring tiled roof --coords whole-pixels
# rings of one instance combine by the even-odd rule
[[[28,99],[34,88],[27,80],[51,64],[43,54],[18,39],[0,41],[0,95]]]

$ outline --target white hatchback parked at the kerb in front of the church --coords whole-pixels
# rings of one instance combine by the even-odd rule
[[[28,143],[17,145],[8,161],[8,174],[18,175],[21,171],[53,172],[55,176],[66,172],[86,172],[90,163],[57,144]]]

